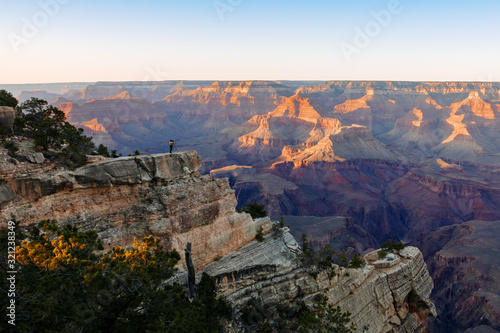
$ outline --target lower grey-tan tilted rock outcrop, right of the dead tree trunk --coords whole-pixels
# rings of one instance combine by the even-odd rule
[[[285,302],[313,305],[325,295],[328,303],[351,313],[356,332],[426,332],[426,320],[435,315],[429,300],[433,288],[422,254],[407,247],[392,261],[367,255],[361,269],[333,266],[333,272],[311,274],[299,259],[301,249],[282,229],[207,265],[202,271],[216,278],[219,293],[236,313],[250,300],[268,308]],[[201,272],[200,272],[201,273]],[[228,332],[242,332],[228,327]]]

